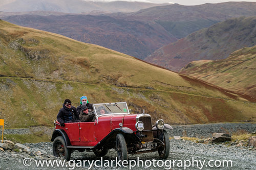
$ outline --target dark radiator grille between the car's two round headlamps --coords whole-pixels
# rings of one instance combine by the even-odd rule
[[[141,116],[139,117],[139,120],[144,123],[144,130],[152,130],[152,123],[151,123],[151,117],[150,116]],[[153,131],[148,132],[141,132],[143,135],[147,135],[147,137],[143,137],[141,141],[143,142],[150,142],[153,141]]]

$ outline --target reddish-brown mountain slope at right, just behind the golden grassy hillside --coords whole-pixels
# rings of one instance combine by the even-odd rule
[[[231,18],[159,48],[145,61],[178,71],[195,60],[225,59],[256,45],[256,17]]]

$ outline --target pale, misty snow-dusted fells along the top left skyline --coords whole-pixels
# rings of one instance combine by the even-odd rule
[[[167,4],[143,2],[93,2],[84,0],[13,0],[0,4],[0,11],[28,12],[28,11],[55,11],[63,13],[83,13],[90,11],[104,12],[135,12],[140,9]]]

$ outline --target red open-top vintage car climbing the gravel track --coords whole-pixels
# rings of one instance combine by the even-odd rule
[[[162,159],[168,157],[169,137],[165,129],[173,128],[162,119],[152,126],[151,115],[144,111],[130,114],[126,102],[93,104],[93,109],[94,122],[66,123],[61,127],[55,120],[51,139],[54,156],[70,160],[74,150],[104,156],[114,148],[119,160],[127,160],[127,154],[154,151]]]

